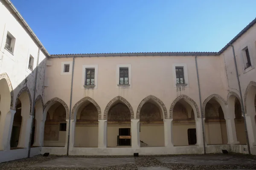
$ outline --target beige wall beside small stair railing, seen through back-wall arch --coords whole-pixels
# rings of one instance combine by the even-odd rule
[[[140,140],[148,147],[164,146],[164,127],[160,125],[140,125]]]

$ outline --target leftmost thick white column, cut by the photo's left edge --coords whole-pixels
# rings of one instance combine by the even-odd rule
[[[10,150],[10,140],[11,140],[11,135],[12,135],[12,124],[13,124],[13,118],[14,114],[16,113],[15,110],[10,110],[6,115],[3,115],[2,113],[2,118],[1,120],[1,128],[2,130],[2,135],[0,136],[0,139],[2,139],[0,143],[0,150]]]

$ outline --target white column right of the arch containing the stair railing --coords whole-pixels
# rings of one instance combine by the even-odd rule
[[[172,120],[173,119],[164,119],[164,145],[165,147],[173,147],[172,144]]]

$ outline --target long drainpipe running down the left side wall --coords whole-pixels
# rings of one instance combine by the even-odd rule
[[[37,82],[37,76],[38,76],[38,61],[39,61],[39,54],[40,54],[41,48],[38,48],[38,57],[37,57],[37,61],[36,61],[35,86],[34,86],[34,96],[33,96],[33,105],[32,105],[32,122],[31,122],[31,127],[30,127],[28,158],[30,157],[31,139],[33,137],[32,131],[33,131],[34,116],[35,116],[35,92],[36,92],[36,82]]]

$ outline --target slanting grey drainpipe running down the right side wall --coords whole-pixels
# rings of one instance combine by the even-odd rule
[[[232,50],[233,50],[233,57],[234,57],[235,68],[236,68],[236,78],[237,78],[238,87],[239,87],[239,93],[240,93],[240,99],[241,99],[242,113],[243,113],[243,116],[244,116],[244,129],[245,129],[245,135],[246,135],[246,142],[247,142],[247,146],[248,146],[248,153],[251,154],[251,153],[250,153],[250,143],[249,143],[249,139],[248,139],[248,132],[247,132],[246,119],[245,119],[245,113],[244,113],[243,96],[242,96],[241,85],[240,85],[240,80],[239,80],[239,74],[238,74],[238,69],[237,69],[237,64],[236,64],[235,48],[234,48],[234,46],[233,46],[232,44],[230,44],[230,46],[232,47]]]

